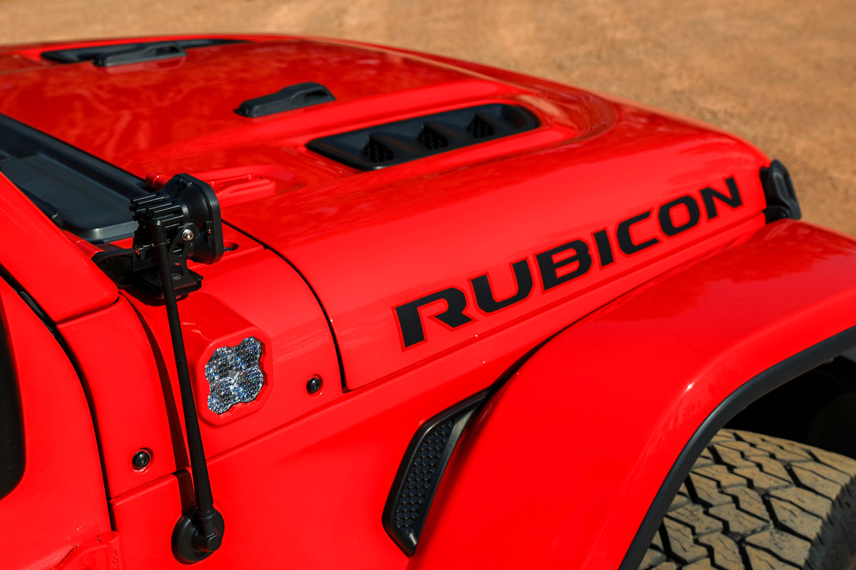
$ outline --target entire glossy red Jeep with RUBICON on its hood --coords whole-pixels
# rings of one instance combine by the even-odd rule
[[[306,38],[0,93],[0,567],[856,568],[856,242],[750,144]]]

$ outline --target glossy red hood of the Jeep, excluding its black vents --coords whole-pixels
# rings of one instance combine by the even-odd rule
[[[276,250],[312,286],[351,387],[479,335],[525,327],[548,309],[560,308],[556,322],[567,324],[698,252],[701,238],[763,223],[758,168],[769,161],[758,150],[687,120],[513,73],[296,38],[117,68],[27,59],[38,53],[0,53],[8,70],[0,112],[140,177],[209,180],[223,220]],[[325,85],[336,102],[260,119],[234,112],[306,81]],[[540,126],[371,172],[306,149],[337,132],[496,102],[529,109]],[[710,215],[702,190],[728,195],[732,185],[739,205],[717,198]],[[698,208],[692,225],[683,197]],[[663,208],[675,216],[666,232]],[[622,222],[633,244],[656,242],[622,251]],[[539,254],[570,243],[586,245],[591,267],[549,286]],[[556,264],[567,257],[548,256]],[[520,283],[512,264],[522,260],[533,281],[526,299],[477,306],[473,280],[487,275],[496,300],[513,297]],[[467,300],[466,326],[431,318],[446,308],[437,297],[419,309],[425,342],[402,338],[396,308],[453,289]]]

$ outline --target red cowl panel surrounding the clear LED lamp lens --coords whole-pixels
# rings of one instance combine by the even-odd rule
[[[247,238],[235,242],[247,243],[252,244]],[[241,255],[239,245],[216,265],[196,268],[205,274],[205,291],[181,300],[179,311],[207,455],[213,457],[246,444],[341,396],[342,381],[330,327],[312,292],[288,264],[266,250]],[[161,373],[169,373],[171,384],[164,397],[168,403],[180,403],[163,304],[145,297],[128,299],[146,321]],[[225,414],[212,414],[207,406],[205,363],[220,346],[235,346],[252,334],[265,343],[261,402],[238,404]],[[310,396],[306,381],[313,375],[323,379],[324,388]],[[180,405],[175,409],[181,409]],[[171,418],[173,446],[179,459],[173,462],[172,451],[163,454],[170,472],[187,465],[180,416]]]

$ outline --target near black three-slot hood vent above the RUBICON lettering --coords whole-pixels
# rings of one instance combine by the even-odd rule
[[[490,103],[316,138],[306,147],[349,167],[376,170],[538,125],[535,115],[522,107]]]

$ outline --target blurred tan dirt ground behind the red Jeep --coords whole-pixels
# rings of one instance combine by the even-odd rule
[[[0,0],[0,43],[281,32],[541,75],[722,126],[788,166],[805,219],[856,235],[853,0]]]

